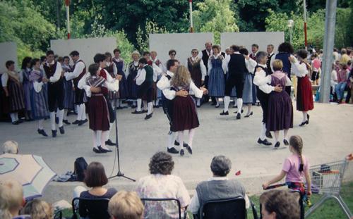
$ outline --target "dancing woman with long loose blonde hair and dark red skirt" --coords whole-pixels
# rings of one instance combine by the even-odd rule
[[[172,77],[171,85],[175,92],[180,90],[189,92],[189,95],[186,97],[174,96],[169,98],[173,99],[172,131],[178,132],[179,142],[184,142],[184,130],[189,131],[189,144],[186,144],[186,149],[190,154],[193,154],[193,135],[195,134],[195,128],[198,127],[200,123],[198,123],[196,106],[191,94],[194,94],[196,98],[201,98],[203,94],[207,93],[207,89],[205,89],[205,87],[198,89],[191,80],[188,68],[183,65],[177,68],[177,72],[174,74],[174,77]],[[180,155],[184,155],[183,149],[180,150]]]

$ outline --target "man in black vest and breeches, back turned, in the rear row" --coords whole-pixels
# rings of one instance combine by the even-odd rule
[[[232,46],[234,51],[225,59],[225,68],[228,69],[229,77],[225,84],[225,108],[220,115],[229,115],[228,106],[230,102],[230,94],[235,86],[237,92],[237,106],[239,111],[237,119],[241,118],[241,108],[243,106],[243,88],[244,88],[244,74],[246,73],[246,63],[243,55],[239,53],[239,46]]]

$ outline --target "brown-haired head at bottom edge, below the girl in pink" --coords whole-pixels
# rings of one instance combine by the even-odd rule
[[[299,196],[285,190],[270,190],[261,194],[261,215],[263,219],[298,219]]]

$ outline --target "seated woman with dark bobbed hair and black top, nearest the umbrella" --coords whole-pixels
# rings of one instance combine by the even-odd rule
[[[80,197],[85,199],[110,199],[116,194],[116,189],[106,189],[103,186],[108,183],[107,175],[105,175],[104,167],[102,163],[92,162],[88,165],[85,172],[85,179],[83,180],[87,187],[90,187],[89,191],[84,187],[78,186],[73,191],[73,197]],[[101,209],[95,206],[96,202],[92,204],[90,201],[79,201],[78,212],[80,217],[89,217],[90,219],[100,218],[109,219],[108,209]],[[94,209],[94,211],[88,211],[88,209]]]

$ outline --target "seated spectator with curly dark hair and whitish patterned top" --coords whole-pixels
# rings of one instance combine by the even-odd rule
[[[172,156],[164,152],[157,152],[150,159],[150,175],[142,177],[138,181],[136,192],[140,198],[153,198],[153,199],[178,199],[181,204],[181,212],[190,204],[190,196],[184,183],[180,177],[172,175],[174,168],[174,161]],[[176,218],[179,211],[171,211],[170,204],[162,206],[168,218]],[[145,206],[144,218],[152,218],[148,215],[153,209],[147,209]],[[160,211],[160,209],[159,209]]]

